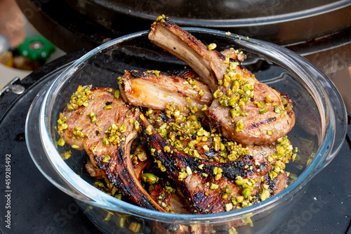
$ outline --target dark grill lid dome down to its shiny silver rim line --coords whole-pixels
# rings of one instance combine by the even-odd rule
[[[180,25],[195,27],[277,24],[325,14],[351,4],[351,1],[345,0],[66,0],[66,2],[84,15],[95,16],[95,20],[100,22],[115,14],[152,22],[158,15],[165,14]],[[113,18],[111,19],[110,23],[113,22]],[[108,27],[108,22],[103,24]]]

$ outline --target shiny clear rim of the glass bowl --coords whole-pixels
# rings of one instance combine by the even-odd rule
[[[232,34],[229,36],[225,34],[225,32],[218,31],[218,30],[208,30],[208,29],[194,28],[194,27],[185,27],[185,30],[189,32],[214,34],[214,35],[219,35],[221,37],[233,37],[233,39],[239,39],[239,37],[241,37],[236,34]],[[326,117],[326,120],[329,120],[329,122],[325,124],[324,136],[321,139],[322,144],[318,152],[316,153],[314,160],[312,160],[312,162],[305,169],[305,171],[303,171],[303,173],[296,179],[296,181],[294,181],[288,188],[286,188],[281,193],[279,193],[278,195],[275,195],[274,197],[271,197],[268,200],[265,200],[258,204],[253,204],[251,207],[246,207],[245,209],[237,209],[230,212],[224,212],[219,214],[200,214],[200,215],[199,214],[170,214],[170,213],[152,211],[150,209],[145,209],[142,207],[138,207],[134,204],[129,204],[127,202],[117,200],[114,197],[107,195],[106,193],[103,193],[102,191],[94,188],[86,181],[84,181],[82,178],[80,178],[77,174],[75,174],[74,171],[72,171],[72,169],[70,169],[67,166],[67,164],[62,160],[62,158],[60,157],[60,154],[56,151],[55,145],[51,139],[51,136],[46,131],[46,126],[48,126],[48,122],[46,120],[46,113],[50,113],[50,110],[51,110],[50,104],[51,104],[51,101],[53,101],[53,98],[55,98],[55,92],[60,90],[58,89],[59,86],[62,84],[62,82],[67,82],[67,80],[70,77],[70,74],[74,73],[77,69],[79,69],[79,66],[81,64],[84,64],[84,61],[91,58],[91,56],[93,56],[95,53],[99,53],[100,51],[103,51],[105,48],[108,48],[114,44],[119,44],[122,41],[126,41],[134,37],[145,36],[147,33],[148,31],[145,30],[142,32],[136,32],[134,34],[128,34],[124,37],[119,37],[112,41],[108,41],[106,44],[103,44],[102,46],[98,46],[92,51],[86,53],[86,55],[79,58],[79,60],[77,60],[70,67],[68,67],[67,70],[65,70],[65,72],[62,72],[62,74],[60,74],[59,77],[51,81],[51,84],[48,84],[47,89],[41,93],[41,95],[45,95],[45,96],[44,96],[44,102],[41,105],[41,111],[39,113],[39,116],[40,116],[39,131],[40,131],[43,148],[45,151],[44,153],[47,157],[47,160],[49,161],[48,163],[51,163],[53,167],[55,167],[55,170],[57,171],[58,176],[60,176],[63,180],[65,180],[67,182],[67,185],[61,186],[59,183],[55,181],[55,178],[51,178],[50,176],[48,176],[45,173],[45,171],[41,170],[41,172],[44,174],[44,176],[46,176],[46,178],[48,178],[49,181],[51,181],[51,183],[53,183],[55,186],[60,188],[60,190],[64,191],[65,193],[71,195],[72,197],[78,200],[82,200],[84,202],[92,204],[95,207],[108,209],[111,212],[124,212],[126,214],[132,214],[134,216],[139,216],[139,217],[143,217],[151,220],[158,220],[158,221],[165,221],[165,222],[206,221],[206,223],[208,223],[208,221],[216,222],[216,221],[223,221],[227,219],[230,219],[230,220],[242,219],[245,216],[253,216],[254,214],[263,212],[267,209],[271,209],[272,207],[276,206],[281,202],[284,202],[285,200],[289,200],[289,198],[291,198],[293,195],[298,193],[298,190],[300,190],[300,188],[305,186],[305,184],[307,183],[307,181],[310,180],[310,178],[312,178],[315,174],[317,174],[318,171],[320,171],[322,168],[326,166],[326,164],[330,162],[330,160],[326,161],[326,158],[328,158],[328,156],[330,157],[331,154],[334,157],[338,152],[338,150],[340,150],[341,145],[343,145],[343,138],[345,137],[342,137],[341,140],[339,140],[339,142],[337,143],[337,145],[333,145],[334,138],[336,137],[335,136],[336,120],[334,119],[335,117],[334,115],[336,114],[333,112],[333,108],[331,105],[332,103],[330,102],[329,97],[324,95],[326,103],[323,103],[322,105],[325,105],[325,108],[326,108],[326,110],[324,110],[326,115],[325,117]],[[321,76],[324,77],[324,79],[326,79],[326,82],[329,83],[329,85],[333,86],[333,84],[329,81],[329,79],[324,74],[322,74],[322,72],[320,72],[317,69],[317,67],[314,67],[312,63],[308,62],[307,60],[298,56],[297,54],[287,50],[286,48],[282,48],[281,46],[270,44],[269,42],[265,42],[265,41],[260,41],[256,39],[246,39],[246,37],[241,37],[241,39],[243,39],[243,41],[241,42],[243,42],[245,46],[253,46],[253,47],[258,46],[261,48],[265,48],[266,50],[270,50],[272,53],[280,54],[280,56],[283,56],[283,55],[286,56],[286,58],[289,58],[291,60],[290,62],[292,62],[293,65],[297,66],[299,69],[302,69],[300,65],[305,65],[306,67],[309,67],[310,69],[314,70],[314,72],[319,72]],[[305,73],[305,75],[307,75],[308,77],[311,77],[310,74]],[[313,82],[317,84],[318,88],[321,89],[322,92],[325,92],[323,89],[323,86],[319,84],[317,80],[314,80]],[[340,96],[337,90],[336,92],[337,92],[336,96]],[[340,100],[340,102],[343,102],[340,97],[338,97],[338,99]],[[39,104],[37,103],[37,105]],[[346,117],[345,107],[344,107],[344,110],[342,111],[345,112],[344,116]],[[29,112],[30,112],[30,109],[29,109]],[[343,130],[343,132],[339,133],[339,135],[345,136],[346,129],[347,129],[346,124],[345,126],[342,126],[341,129]],[[26,134],[27,134],[27,127],[26,127]],[[27,138],[28,137],[26,136],[26,141],[27,141]],[[27,145],[29,148],[29,152],[31,152],[28,141],[27,141]],[[34,163],[37,164],[37,167],[41,169],[40,165],[37,163],[36,155],[31,154],[31,156],[34,160]],[[74,192],[72,192],[72,190]]]

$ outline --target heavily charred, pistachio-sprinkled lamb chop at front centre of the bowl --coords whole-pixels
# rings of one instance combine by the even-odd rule
[[[192,157],[167,143],[145,117],[140,119],[159,168],[167,171],[189,197],[194,214],[225,212],[258,202],[254,196],[260,192],[261,177],[268,174],[270,164],[260,163],[251,155],[227,163]],[[233,199],[237,201],[235,207]]]

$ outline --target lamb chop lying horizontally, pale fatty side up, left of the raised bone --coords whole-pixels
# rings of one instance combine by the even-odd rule
[[[211,105],[213,99],[208,87],[196,79],[188,81],[157,71],[126,71],[119,90],[126,103],[156,110],[164,110],[171,102],[184,112],[189,112],[187,106],[201,110],[204,105]]]

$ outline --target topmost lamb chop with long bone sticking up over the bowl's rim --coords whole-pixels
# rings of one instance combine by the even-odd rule
[[[239,64],[197,40],[165,17],[152,24],[149,39],[185,61],[213,93],[206,115],[227,138],[264,145],[285,136],[295,124],[289,100]],[[171,41],[171,43],[170,43]]]

